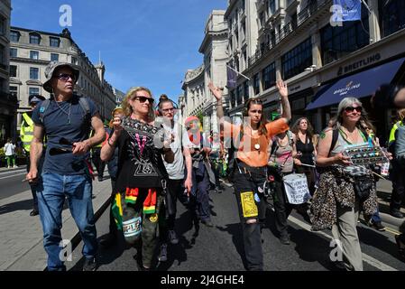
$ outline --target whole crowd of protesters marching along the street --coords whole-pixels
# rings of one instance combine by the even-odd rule
[[[97,158],[98,181],[103,181],[107,164],[112,186],[109,233],[100,244],[110,247],[122,234],[137,250],[139,270],[152,270],[156,260],[165,262],[168,245],[179,243],[175,226],[178,200],[195,224],[214,227],[209,193],[212,189],[220,193],[225,177],[235,189],[235,214],[240,218],[247,270],[263,270],[261,233],[269,201],[282,244],[290,244],[287,219],[295,209],[312,230],[332,229],[344,256],[336,266],[363,270],[356,229],[359,211],[373,228],[384,228],[375,178],[381,176],[382,163],[354,164],[346,154],[356,145],[380,147],[359,99],[341,100],[336,116],[316,135],[307,117],[298,118],[290,126],[294,116],[288,87],[282,80],[276,83],[281,97],[280,117],[267,120],[262,100],[249,98],[238,124],[225,115],[223,89],[210,83],[208,88],[216,99],[217,127],[205,130],[196,116],[179,122],[179,109],[166,95],[156,103],[150,89],[135,87],[128,90],[121,106],[111,112],[108,127],[104,127],[94,103],[73,93],[78,75],[75,65],[51,61],[44,83],[51,99],[41,99],[32,111],[31,166],[26,179],[37,197],[48,270],[66,269],[59,257],[61,210],[66,197],[85,243],[83,270],[97,268],[92,166],[88,162],[91,151]],[[391,89],[388,97],[388,90],[383,89],[376,92],[373,103],[388,98],[391,104],[402,105],[404,89],[396,89],[393,95]],[[399,117],[385,156],[391,160],[394,187],[391,215],[403,218],[403,109]],[[11,140],[5,150],[11,166]],[[304,178],[308,191],[299,203],[290,200],[286,189],[287,180],[296,176]],[[404,235],[395,239],[404,257]]]

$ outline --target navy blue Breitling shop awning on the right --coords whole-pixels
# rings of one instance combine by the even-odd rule
[[[335,105],[346,97],[364,98],[373,95],[382,84],[391,82],[404,60],[391,61],[321,87],[306,110]]]

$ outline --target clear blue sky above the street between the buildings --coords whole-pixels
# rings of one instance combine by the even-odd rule
[[[212,10],[227,0],[12,0],[12,26],[61,33],[60,5],[72,8],[72,38],[106,80],[126,92],[145,86],[177,101],[180,81],[203,61],[198,48]]]

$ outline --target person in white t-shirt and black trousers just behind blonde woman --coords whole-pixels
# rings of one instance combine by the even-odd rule
[[[189,135],[184,130],[181,124],[174,121],[175,108],[173,102],[166,95],[161,95],[158,104],[158,113],[163,118],[163,128],[168,135],[174,136],[174,141],[170,144],[171,151],[174,154],[172,163],[163,163],[166,171],[169,174],[166,193],[166,228],[167,236],[161,234],[161,251],[159,261],[167,260],[167,241],[172,245],[179,243],[176,231],[174,230],[174,223],[177,212],[177,200],[184,199],[184,189],[188,193],[192,187],[192,170],[191,170],[191,154],[189,152]],[[187,171],[185,171],[185,165]],[[185,175],[187,173],[187,175]],[[164,234],[166,235],[166,234]]]

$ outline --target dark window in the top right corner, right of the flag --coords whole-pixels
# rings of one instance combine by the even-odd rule
[[[405,28],[405,1],[379,1],[379,5],[383,37]]]

